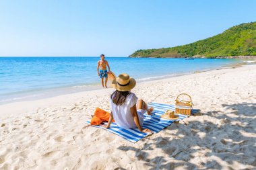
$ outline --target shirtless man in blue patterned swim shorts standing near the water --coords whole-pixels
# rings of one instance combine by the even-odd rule
[[[108,66],[108,71],[106,70],[106,66]],[[98,70],[98,67],[100,67],[100,72]],[[104,77],[105,77],[105,87],[106,87],[106,82],[108,81],[108,72],[110,71],[110,67],[108,65],[108,61],[105,60],[105,56],[104,54],[100,55],[100,60],[98,61],[98,65],[97,65],[97,72],[98,72],[98,76],[100,76],[101,78],[101,83],[102,86],[104,88]],[[106,87],[108,88],[108,87]]]

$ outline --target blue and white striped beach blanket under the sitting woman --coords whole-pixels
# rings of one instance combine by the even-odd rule
[[[142,128],[148,128],[153,132],[160,132],[160,130],[166,128],[167,126],[172,124],[172,122],[187,118],[187,116],[179,114],[179,119],[177,120],[166,120],[161,118],[160,116],[164,114],[166,110],[175,110],[174,105],[149,103],[148,107],[150,108],[151,106],[154,108],[154,111],[152,112],[151,115],[144,114],[144,122],[143,122]],[[198,112],[198,110],[192,110],[192,114],[195,114],[196,112]],[[86,123],[90,124],[90,121],[87,121]],[[107,124],[107,122],[104,122],[104,124]],[[117,126],[115,122],[111,123],[110,128],[108,129],[103,128],[102,126],[95,126],[95,127],[113,132],[114,134],[117,134],[133,143],[139,141],[141,138],[144,138],[150,134],[150,133],[140,132],[138,128],[135,128],[135,129],[120,128],[119,126]]]

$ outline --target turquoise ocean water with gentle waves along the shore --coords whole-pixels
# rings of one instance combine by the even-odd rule
[[[0,104],[100,88],[99,57],[0,57]],[[236,59],[106,57],[116,75],[137,81],[217,69]]]

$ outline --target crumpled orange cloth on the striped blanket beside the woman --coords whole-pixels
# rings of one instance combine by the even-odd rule
[[[95,112],[94,112],[94,117],[92,117],[91,120],[91,124],[92,125],[100,125],[103,121],[108,122],[110,117],[110,113],[100,109],[100,108],[96,108]],[[115,122],[115,120],[113,120],[112,122]]]

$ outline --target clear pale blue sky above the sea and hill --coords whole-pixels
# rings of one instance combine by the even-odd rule
[[[255,21],[254,0],[0,0],[0,56],[128,56]]]

